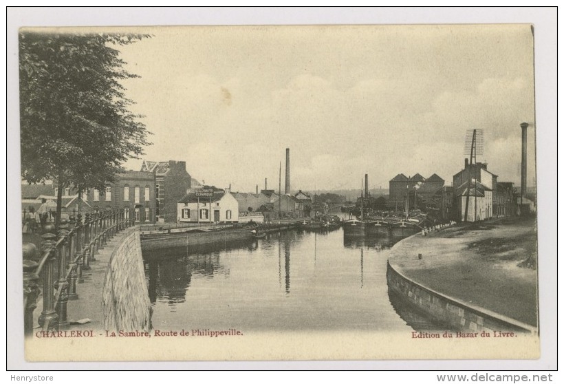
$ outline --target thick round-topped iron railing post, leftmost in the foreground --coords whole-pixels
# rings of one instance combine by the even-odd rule
[[[38,254],[35,244],[23,244],[23,334],[26,337],[33,334],[33,312],[39,297],[39,276],[35,273],[39,264],[34,261]]]

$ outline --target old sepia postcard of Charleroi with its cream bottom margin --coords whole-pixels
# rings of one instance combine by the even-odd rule
[[[26,361],[539,359],[534,48],[21,28]]]

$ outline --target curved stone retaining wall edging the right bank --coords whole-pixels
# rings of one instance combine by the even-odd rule
[[[536,334],[536,328],[484,308],[468,306],[417,284],[387,263],[388,289],[437,323],[469,332],[519,332]]]

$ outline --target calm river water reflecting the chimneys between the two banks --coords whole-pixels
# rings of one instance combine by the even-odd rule
[[[395,238],[283,231],[241,244],[144,253],[156,329],[432,329],[389,296]]]

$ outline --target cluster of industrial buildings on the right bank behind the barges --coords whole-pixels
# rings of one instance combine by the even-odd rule
[[[445,220],[470,222],[515,215],[519,195],[512,182],[498,182],[497,177],[488,171],[488,164],[469,164],[468,159],[464,169],[453,175],[452,186],[445,185],[436,173],[429,178],[400,173],[389,182],[388,207],[402,211],[409,206],[434,211]]]

